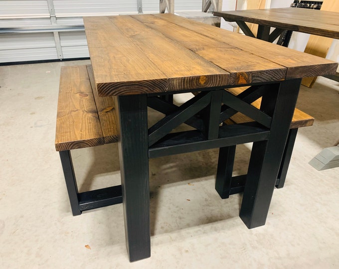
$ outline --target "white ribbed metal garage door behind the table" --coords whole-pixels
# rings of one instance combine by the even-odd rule
[[[159,0],[140,2],[144,13],[159,12]],[[175,0],[175,11],[201,10],[201,4]],[[82,16],[127,13],[138,13],[138,0],[0,0],[0,63],[89,57],[82,30],[8,33],[8,27],[82,25]]]

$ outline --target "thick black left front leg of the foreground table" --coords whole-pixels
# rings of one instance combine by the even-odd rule
[[[115,97],[126,246],[131,262],[151,256],[147,95]]]

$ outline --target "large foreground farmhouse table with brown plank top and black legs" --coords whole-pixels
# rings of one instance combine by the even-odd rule
[[[150,257],[149,158],[254,142],[240,217],[265,224],[301,78],[338,64],[173,14],[85,17],[99,96],[114,96],[126,244]],[[226,88],[250,86],[238,96]],[[175,106],[167,97],[196,92]],[[261,108],[250,104],[262,97]],[[148,127],[147,108],[166,116]],[[255,123],[222,125],[236,112]],[[192,131],[170,133],[185,123]],[[219,159],[222,166],[223,161]]]

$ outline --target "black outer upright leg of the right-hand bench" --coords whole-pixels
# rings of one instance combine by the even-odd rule
[[[277,188],[284,187],[286,174],[287,174],[288,166],[291,161],[293,146],[294,146],[294,142],[296,141],[297,133],[298,133],[298,128],[291,129],[288,135],[283,159],[280,164],[280,169],[279,169],[279,174],[278,174],[278,184],[276,185]]]

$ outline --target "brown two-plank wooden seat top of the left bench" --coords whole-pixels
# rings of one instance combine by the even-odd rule
[[[117,141],[113,98],[99,98],[90,78],[93,80],[90,66],[61,68],[55,134],[57,151]]]

